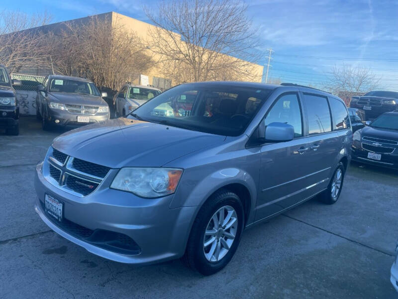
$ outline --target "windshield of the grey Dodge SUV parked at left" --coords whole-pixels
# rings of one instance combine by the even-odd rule
[[[100,96],[100,92],[94,83],[71,79],[51,79],[50,92],[66,92],[97,97]]]

